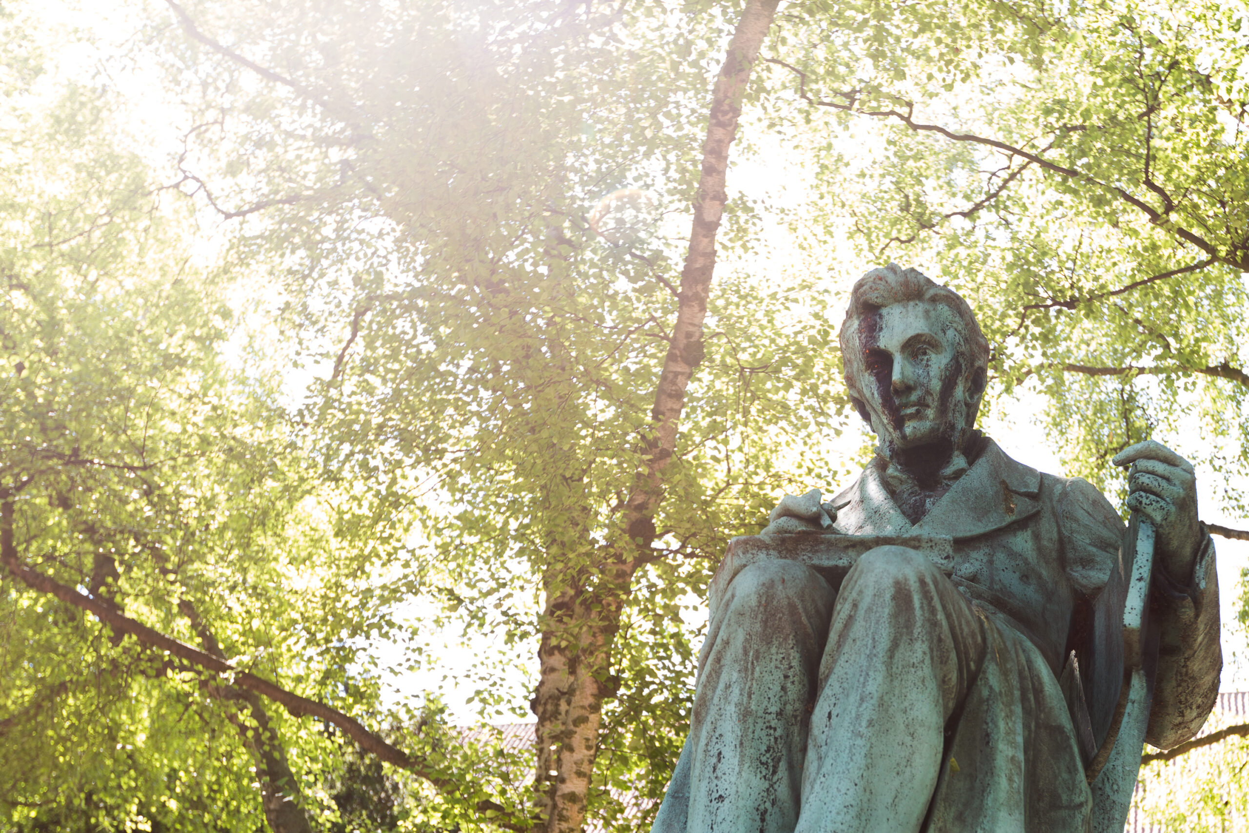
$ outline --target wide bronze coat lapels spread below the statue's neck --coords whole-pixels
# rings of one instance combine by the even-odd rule
[[[1039,495],[1040,472],[1010,460],[990,440],[975,465],[913,527],[872,465],[831,503],[837,510],[836,528],[846,535],[974,538],[1035,515]]]

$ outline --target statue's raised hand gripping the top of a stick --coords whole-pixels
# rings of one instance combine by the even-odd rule
[[[1158,532],[1157,563],[1187,587],[1202,542],[1193,465],[1153,440],[1124,448],[1112,462],[1115,466],[1132,463],[1127,506],[1153,521]]]

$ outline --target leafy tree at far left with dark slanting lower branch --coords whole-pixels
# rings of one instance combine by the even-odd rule
[[[186,200],[121,149],[115,90],[62,77],[31,20],[4,24],[6,826],[307,831],[340,741],[272,711],[256,674],[371,702],[343,641],[385,631],[387,601],[338,613],[367,547],[342,558],[274,380],[226,360],[220,275],[195,265]]]

